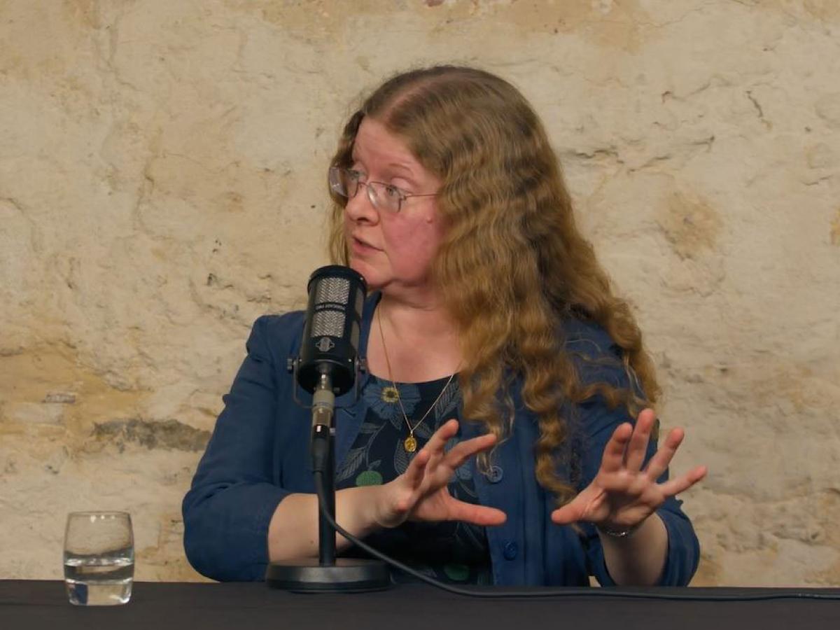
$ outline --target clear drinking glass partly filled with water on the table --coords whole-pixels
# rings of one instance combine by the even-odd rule
[[[131,599],[134,533],[128,512],[71,512],[64,534],[64,581],[76,606]]]

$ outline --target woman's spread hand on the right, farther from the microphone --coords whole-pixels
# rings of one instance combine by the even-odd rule
[[[607,442],[601,469],[589,486],[569,503],[551,513],[558,525],[588,521],[604,529],[636,528],[669,496],[694,486],[706,476],[706,466],[696,466],[685,475],[657,483],[668,468],[685,436],[671,430],[644,468],[644,456],[656,418],[652,409],[638,414],[635,428],[623,423]]]

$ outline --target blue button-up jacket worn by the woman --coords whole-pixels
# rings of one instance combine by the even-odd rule
[[[360,348],[366,348],[377,295],[365,302]],[[277,505],[293,492],[313,493],[309,462],[310,412],[293,402],[294,380],[286,360],[297,356],[303,312],[264,316],[254,324],[248,355],[236,375],[213,437],[207,444],[192,488],[183,501],[184,547],[192,566],[214,580],[262,580],[268,563],[268,527]],[[608,381],[628,387],[620,349],[600,327],[569,320],[564,324],[566,349],[575,357],[583,381]],[[581,357],[606,360],[594,365]],[[365,379],[365,376],[362,376]],[[537,419],[522,405],[520,383],[512,387],[513,431],[493,457],[485,474],[473,479],[480,502],[501,509],[507,522],[487,528],[493,579],[497,585],[588,585],[595,575],[601,585],[614,582],[604,564],[596,529],[580,523],[579,532],[551,522],[554,497],[538,485],[533,445]],[[352,394],[339,398],[349,407],[336,412],[336,461],[344,460],[363,418]],[[344,400],[343,400],[344,399]],[[577,417],[580,452],[579,489],[587,486],[601,464],[612,432],[633,421],[623,407],[610,410],[600,397],[564,409]],[[575,428],[572,428],[575,433]],[[465,423],[464,438],[478,434]],[[648,447],[648,458],[656,445]],[[661,480],[667,479],[667,472]],[[699,544],[680,501],[659,508],[668,530],[668,556],[660,585],[686,585],[696,570]]]

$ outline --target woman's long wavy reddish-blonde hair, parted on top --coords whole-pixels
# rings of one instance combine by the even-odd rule
[[[501,441],[513,417],[512,375],[538,417],[537,479],[560,503],[574,496],[559,475],[570,429],[564,402],[603,396],[636,415],[659,396],[653,362],[627,302],[613,295],[594,250],[578,231],[569,192],[543,124],[507,81],[470,67],[435,66],[393,76],[344,126],[332,165],[349,167],[363,118],[386,125],[443,182],[437,208],[445,234],[431,270],[459,327],[464,417]],[[333,195],[330,253],[347,265],[343,212]],[[621,346],[633,386],[583,386],[568,350],[564,318],[594,321]],[[638,379],[638,381],[636,380]],[[501,392],[501,393],[500,393]],[[486,469],[489,459],[480,459]]]

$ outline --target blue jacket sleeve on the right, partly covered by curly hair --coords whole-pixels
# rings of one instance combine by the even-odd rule
[[[611,340],[608,340],[608,343],[609,341]],[[603,345],[601,344],[601,347]],[[629,388],[631,386],[630,379],[624,370],[618,352],[617,346],[612,346],[611,350],[608,351],[610,359],[607,361],[597,364],[579,363],[578,369],[581,380],[584,382],[606,381],[619,389]],[[633,383],[633,387],[637,393],[641,393],[638,384]],[[580,405],[579,417],[580,429],[584,433],[581,449],[582,461],[580,462],[581,479],[578,488],[580,491],[588,486],[597,475],[606,443],[612,437],[612,433],[618,425],[625,422],[635,424],[636,419],[627,413],[627,409],[623,405],[610,409],[606,400],[601,396],[595,396],[590,401]],[[645,464],[656,453],[656,449],[657,441],[652,438],[648,444],[647,454],[645,454]],[[665,470],[663,475],[659,477],[659,483],[668,480],[668,475],[668,470]],[[700,559],[700,544],[689,518],[680,508],[681,504],[682,501],[678,501],[675,497],[669,497],[656,512],[664,522],[668,532],[668,554],[658,585],[687,585],[694,575]],[[585,551],[591,575],[595,575],[602,586],[615,585],[615,581],[612,580],[606,570],[604,550],[601,547],[601,538],[595,526],[591,523],[581,523],[581,527],[583,528]]]

